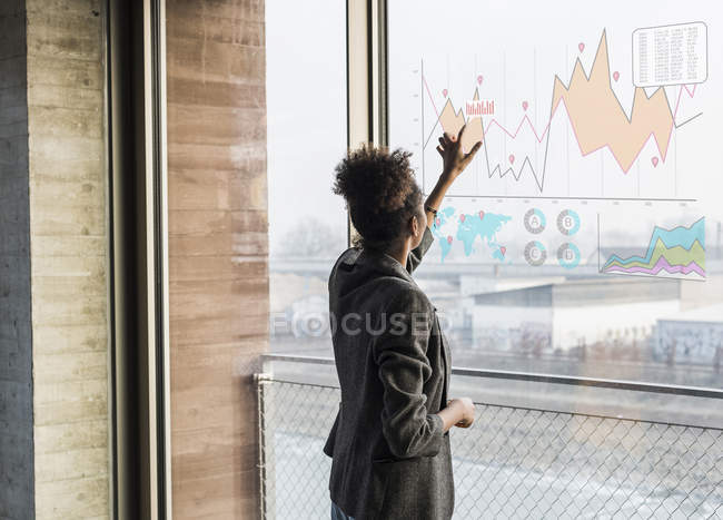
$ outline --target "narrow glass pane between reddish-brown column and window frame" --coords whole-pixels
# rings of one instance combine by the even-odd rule
[[[313,27],[301,20],[314,17]],[[327,278],[347,243],[344,2],[266,2],[271,351],[330,354]]]

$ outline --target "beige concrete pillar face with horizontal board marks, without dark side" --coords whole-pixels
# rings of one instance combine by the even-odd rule
[[[109,512],[100,0],[27,0],[37,518]]]

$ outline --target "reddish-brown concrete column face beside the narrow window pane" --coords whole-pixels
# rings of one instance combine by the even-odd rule
[[[174,518],[258,516],[268,343],[263,0],[168,0]]]

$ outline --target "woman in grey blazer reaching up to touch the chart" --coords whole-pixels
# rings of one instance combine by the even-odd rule
[[[447,401],[449,349],[436,308],[410,273],[433,241],[445,193],[479,149],[439,138],[444,170],[423,205],[409,153],[363,147],[336,168],[356,247],[329,277],[341,402],[324,452],[333,458],[333,519],[447,519],[454,509],[448,430],[474,420]]]

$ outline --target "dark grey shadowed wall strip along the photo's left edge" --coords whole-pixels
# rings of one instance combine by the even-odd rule
[[[0,2],[0,518],[32,518],[24,1]]]

